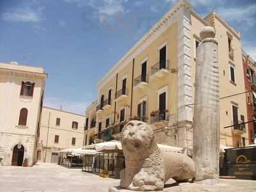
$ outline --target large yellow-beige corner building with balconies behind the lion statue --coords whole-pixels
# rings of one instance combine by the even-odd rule
[[[97,84],[97,101],[86,109],[87,118],[96,118],[95,142],[120,139],[125,122],[140,119],[152,124],[159,143],[192,148],[196,47],[204,26],[214,27],[218,40],[221,144],[248,144],[247,125],[236,125],[247,120],[240,34],[215,12],[202,18],[186,0],[175,4]]]

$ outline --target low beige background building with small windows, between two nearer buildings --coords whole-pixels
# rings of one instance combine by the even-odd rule
[[[82,147],[84,143],[83,115],[43,107],[38,139],[38,161],[58,163],[58,151]]]

